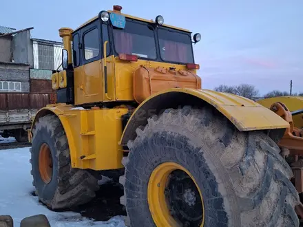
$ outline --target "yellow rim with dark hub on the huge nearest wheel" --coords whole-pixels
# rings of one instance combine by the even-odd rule
[[[165,162],[149,178],[147,199],[156,226],[204,226],[202,193],[194,177],[175,162]]]

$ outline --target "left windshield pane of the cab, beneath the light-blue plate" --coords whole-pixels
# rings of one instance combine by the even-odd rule
[[[118,54],[133,54],[156,59],[154,30],[146,23],[126,20],[125,28],[114,28],[114,45]]]

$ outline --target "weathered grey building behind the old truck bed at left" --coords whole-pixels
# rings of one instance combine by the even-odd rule
[[[0,92],[52,92],[63,43],[31,39],[30,30],[0,26]]]

